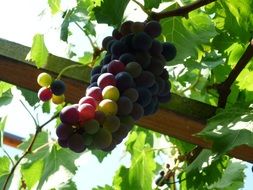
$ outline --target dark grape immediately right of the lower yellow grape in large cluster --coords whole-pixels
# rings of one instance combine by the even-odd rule
[[[133,109],[133,103],[131,100],[126,96],[121,96],[117,101],[118,105],[118,115],[128,115],[131,113]]]

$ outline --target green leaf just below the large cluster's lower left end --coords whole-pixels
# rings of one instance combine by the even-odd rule
[[[44,167],[42,169],[41,179],[38,185],[40,189],[43,184],[49,180],[50,176],[55,174],[60,167],[64,168],[64,171],[68,174],[68,177],[75,174],[77,167],[75,160],[79,158],[80,154],[74,153],[69,149],[59,148],[53,145],[49,154],[44,158]]]

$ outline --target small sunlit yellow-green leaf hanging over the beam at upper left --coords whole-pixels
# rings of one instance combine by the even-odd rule
[[[44,42],[43,34],[35,34],[33,37],[33,44],[26,59],[35,62],[38,68],[43,67],[47,63],[48,50]]]

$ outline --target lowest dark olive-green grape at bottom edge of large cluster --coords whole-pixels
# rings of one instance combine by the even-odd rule
[[[100,128],[93,137],[94,145],[99,149],[104,149],[112,143],[112,134],[105,128]]]

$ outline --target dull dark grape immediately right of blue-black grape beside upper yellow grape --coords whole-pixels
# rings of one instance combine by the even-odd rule
[[[155,76],[150,71],[143,71],[136,79],[137,87],[149,88],[155,83]]]

